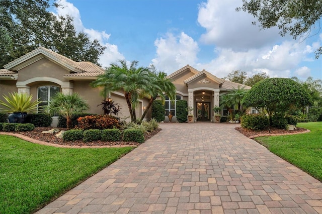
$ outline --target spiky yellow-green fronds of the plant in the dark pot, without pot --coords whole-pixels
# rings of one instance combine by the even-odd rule
[[[5,108],[0,108],[4,113],[32,113],[37,110],[37,106],[40,103],[39,99],[32,101],[32,94],[13,92],[8,96],[3,95],[5,100],[0,100],[0,105]]]

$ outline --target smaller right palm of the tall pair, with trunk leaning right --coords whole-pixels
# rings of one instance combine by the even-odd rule
[[[165,72],[156,72],[155,67],[151,65],[151,75],[154,76],[154,82],[151,84],[151,90],[144,91],[143,96],[149,99],[149,103],[146,106],[146,109],[140,119],[140,122],[144,119],[147,111],[151,108],[153,101],[157,96],[160,96],[162,102],[165,101],[165,94],[169,96],[171,100],[176,98],[176,86],[171,82],[171,79],[167,78],[167,73]],[[150,92],[150,93],[149,93]]]

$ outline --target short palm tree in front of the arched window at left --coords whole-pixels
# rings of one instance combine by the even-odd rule
[[[47,114],[59,114],[67,120],[67,129],[71,128],[71,118],[74,115],[81,114],[90,108],[89,104],[79,96],[78,93],[56,95],[45,106],[44,112]]]

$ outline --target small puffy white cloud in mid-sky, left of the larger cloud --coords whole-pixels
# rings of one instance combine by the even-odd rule
[[[154,45],[156,57],[152,63],[158,70],[168,74],[187,64],[194,65],[197,60],[198,44],[184,32],[178,36],[167,33],[164,38],[157,38]]]

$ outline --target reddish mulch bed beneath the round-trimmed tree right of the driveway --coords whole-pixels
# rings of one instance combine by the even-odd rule
[[[270,127],[268,130],[255,131],[250,129],[245,129],[243,127],[236,127],[235,130],[245,135],[246,137],[251,137],[254,135],[269,135],[269,134],[292,134],[297,132],[304,132],[306,129],[296,127],[296,130],[285,130],[285,129],[277,129],[274,127]]]

